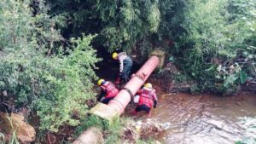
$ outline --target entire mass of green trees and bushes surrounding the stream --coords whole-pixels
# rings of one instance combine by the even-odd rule
[[[256,77],[254,0],[2,0],[0,8],[0,90],[36,112],[41,130],[79,124],[95,95],[94,48],[140,60],[164,49],[193,92],[233,94]]]

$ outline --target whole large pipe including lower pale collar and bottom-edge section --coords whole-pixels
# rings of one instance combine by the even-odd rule
[[[124,89],[120,90],[119,94],[116,95],[112,101],[108,102],[108,106],[105,104],[98,104],[90,111],[102,118],[107,118],[108,120],[113,119],[113,117],[118,114],[121,115],[125,111],[125,107],[131,101],[131,97],[142,87],[158,63],[159,59],[157,56],[150,57],[138,72],[132,75],[131,80],[125,84]],[[84,132],[76,141],[73,141],[73,144],[87,144],[88,142],[85,140],[90,140],[92,138],[90,134],[91,132]]]

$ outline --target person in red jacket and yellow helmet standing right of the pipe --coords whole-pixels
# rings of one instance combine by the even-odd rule
[[[145,84],[143,89],[139,92],[139,100],[136,109],[133,114],[137,114],[137,112],[145,111],[148,113],[148,117],[151,116],[151,108],[156,108],[157,105],[157,97],[155,94],[155,89],[152,88],[152,84]]]

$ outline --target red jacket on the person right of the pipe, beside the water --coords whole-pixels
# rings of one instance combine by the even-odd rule
[[[138,105],[146,105],[148,107],[153,107],[154,101],[157,101],[157,97],[155,95],[155,89],[143,88],[140,91],[140,99]]]

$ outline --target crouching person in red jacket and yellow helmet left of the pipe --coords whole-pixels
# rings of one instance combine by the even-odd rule
[[[108,104],[108,102],[112,100],[119,93],[119,89],[116,89],[114,84],[109,81],[100,79],[98,80],[97,84],[102,89],[101,94],[97,98],[97,101],[101,101],[104,104]]]

